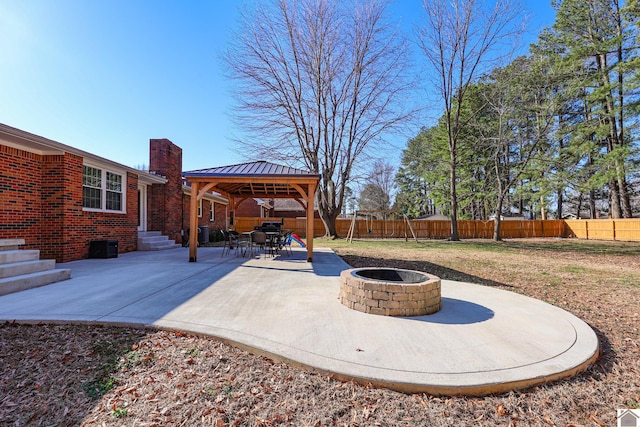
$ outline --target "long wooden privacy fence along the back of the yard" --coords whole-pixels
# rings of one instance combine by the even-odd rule
[[[236,230],[253,230],[263,221],[277,218],[236,218]],[[336,229],[346,236],[351,218],[337,219]],[[446,239],[451,236],[451,221],[410,220],[418,239]],[[305,218],[284,218],[284,229],[292,230],[306,238]],[[315,236],[324,236],[322,220],[316,219]],[[371,220],[358,218],[353,237],[356,239],[412,238],[404,220]],[[458,234],[461,239],[493,238],[493,221],[459,220]],[[500,224],[500,236],[505,239],[533,237],[577,237],[591,240],[640,241],[640,218],[630,219],[575,219],[575,220],[507,220]]]

